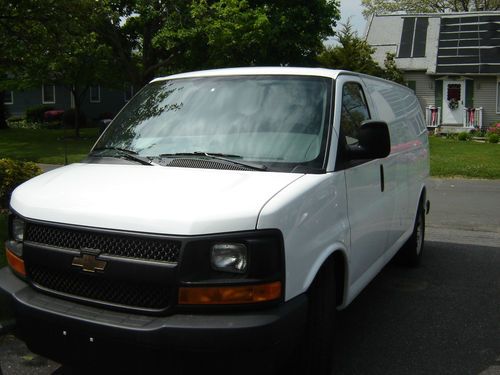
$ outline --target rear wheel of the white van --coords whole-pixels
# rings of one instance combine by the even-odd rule
[[[413,226],[413,233],[403,245],[401,250],[399,250],[397,256],[398,262],[411,267],[418,266],[422,260],[422,253],[424,251],[424,238],[425,208],[423,202],[421,201],[418,206],[417,216]]]

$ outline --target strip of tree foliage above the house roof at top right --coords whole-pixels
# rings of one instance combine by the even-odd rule
[[[444,13],[499,10],[499,0],[362,0],[363,16],[394,12]]]

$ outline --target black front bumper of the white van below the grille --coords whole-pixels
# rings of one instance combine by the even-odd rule
[[[217,352],[289,348],[307,316],[301,295],[278,307],[251,312],[146,316],[115,312],[44,295],[0,269],[0,294],[15,315],[14,333],[37,353],[59,362],[111,352],[154,350]],[[111,350],[112,349],[112,350]],[[86,354],[83,354],[83,353]]]

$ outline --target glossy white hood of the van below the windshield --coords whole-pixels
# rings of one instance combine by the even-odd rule
[[[12,194],[36,220],[171,235],[256,228],[261,208],[301,174],[143,165],[72,164]]]

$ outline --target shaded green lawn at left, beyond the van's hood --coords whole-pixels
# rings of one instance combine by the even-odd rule
[[[74,130],[7,129],[0,131],[0,157],[46,164],[64,164],[82,160],[97,140],[98,129],[82,129],[74,139]],[[64,141],[67,137],[66,142]]]

